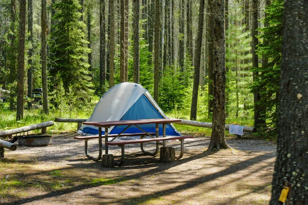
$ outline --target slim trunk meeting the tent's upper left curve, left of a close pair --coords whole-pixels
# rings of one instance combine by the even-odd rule
[[[110,40],[109,40],[109,52],[110,52],[110,88],[114,85],[114,2],[109,0],[109,15],[110,15]]]

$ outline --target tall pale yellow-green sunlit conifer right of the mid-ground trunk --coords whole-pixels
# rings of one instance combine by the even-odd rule
[[[236,117],[242,111],[243,116],[248,115],[248,108],[253,107],[253,95],[248,89],[252,79],[252,72],[248,71],[252,64],[249,59],[252,54],[249,31],[245,30],[245,25],[242,25],[244,15],[239,3],[234,3],[229,7],[229,19],[232,24],[229,25],[226,31],[226,68],[228,69],[227,89],[228,101],[226,102],[227,113]],[[237,105],[232,104],[236,102]]]

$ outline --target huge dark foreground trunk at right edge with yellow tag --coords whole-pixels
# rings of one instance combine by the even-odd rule
[[[308,4],[284,2],[279,93],[277,159],[269,204],[284,185],[291,189],[286,204],[308,204]]]

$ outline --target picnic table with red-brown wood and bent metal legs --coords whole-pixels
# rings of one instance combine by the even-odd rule
[[[180,156],[176,158],[181,158],[183,156],[183,140],[185,138],[193,138],[193,136],[171,136],[171,137],[166,137],[166,125],[170,124],[172,122],[179,122],[181,119],[169,119],[169,118],[157,118],[157,119],[138,119],[138,120],[119,120],[119,121],[92,121],[92,122],[83,122],[84,125],[92,125],[95,127],[98,127],[99,129],[99,156],[97,158],[91,157],[88,155],[87,150],[86,150],[86,155],[88,158],[93,159],[95,161],[98,161],[102,158],[102,150],[103,150],[103,143],[102,139],[103,136],[105,138],[105,154],[108,154],[108,146],[112,145],[118,145],[122,148],[122,156],[121,156],[121,162],[120,165],[123,163],[124,160],[124,146],[126,144],[141,144],[141,149],[144,153],[150,154],[150,155],[156,155],[159,150],[159,141],[163,141],[163,147],[166,146],[166,140],[174,140],[174,139],[179,139],[181,141],[181,154]],[[139,125],[144,125],[144,124],[155,124],[156,125],[156,133],[154,137],[152,134],[146,132],[144,129],[142,129]],[[163,130],[163,136],[159,137],[159,125],[162,125],[162,130]],[[111,140],[108,140],[110,137],[108,134],[108,129],[113,126],[123,126],[123,130],[119,134],[113,134],[111,137],[113,137]],[[138,129],[141,130],[141,133],[138,133],[138,135],[141,136],[141,139],[133,139],[133,140],[125,140],[125,141],[114,141],[120,136],[125,136],[125,135],[130,135],[136,136],[136,133],[130,133],[130,134],[125,134],[124,132],[131,126],[137,127]],[[104,135],[102,134],[102,128],[104,128]],[[150,138],[143,138],[144,136],[149,136]],[[81,137],[75,137],[76,139],[86,139],[86,137],[81,138]],[[154,153],[148,153],[143,150],[143,143],[144,142],[149,142],[149,141],[156,141],[156,151]]]

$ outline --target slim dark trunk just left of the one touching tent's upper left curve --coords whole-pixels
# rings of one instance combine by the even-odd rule
[[[100,0],[100,94],[105,93],[106,83],[106,30],[105,0]]]

